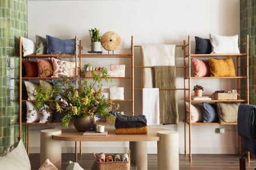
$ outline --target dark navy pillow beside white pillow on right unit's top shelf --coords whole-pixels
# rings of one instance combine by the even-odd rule
[[[195,54],[210,54],[212,45],[210,39],[195,37]]]

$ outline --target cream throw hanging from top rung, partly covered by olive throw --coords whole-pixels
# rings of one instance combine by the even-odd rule
[[[175,66],[175,45],[141,45],[141,66]],[[142,88],[153,88],[152,68],[141,69]]]

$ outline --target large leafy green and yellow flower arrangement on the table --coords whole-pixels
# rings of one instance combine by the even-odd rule
[[[57,59],[59,59],[59,68],[61,68],[58,76],[56,76],[58,77],[56,82],[59,86],[42,89],[41,85],[36,85],[37,102],[35,102],[35,106],[37,108],[44,108],[44,104],[49,104],[49,108],[44,108],[45,110],[49,112],[57,110],[65,113],[65,116],[62,118],[62,126],[65,127],[67,127],[72,117],[83,117],[84,119],[90,117],[91,122],[93,122],[95,114],[108,117],[114,121],[115,119],[112,114],[106,110],[116,110],[119,108],[119,104],[106,101],[102,95],[101,77],[105,78],[106,82],[109,79],[106,68],[102,69],[101,77],[92,71],[93,81],[88,85],[86,80],[81,81],[79,75],[76,77],[67,77],[66,74],[63,75],[65,72],[70,73],[70,69],[67,67],[66,62],[62,61],[64,55],[60,52],[56,53],[56,55]],[[95,88],[96,84],[98,84],[98,88]],[[59,98],[58,100],[48,102],[49,99],[55,99],[57,96]]]

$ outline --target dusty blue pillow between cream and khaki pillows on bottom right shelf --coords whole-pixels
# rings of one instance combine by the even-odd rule
[[[202,121],[204,123],[219,122],[216,104],[202,102]]]

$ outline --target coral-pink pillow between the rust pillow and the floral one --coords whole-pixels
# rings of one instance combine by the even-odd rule
[[[38,77],[51,77],[52,76],[52,61],[37,59]]]

